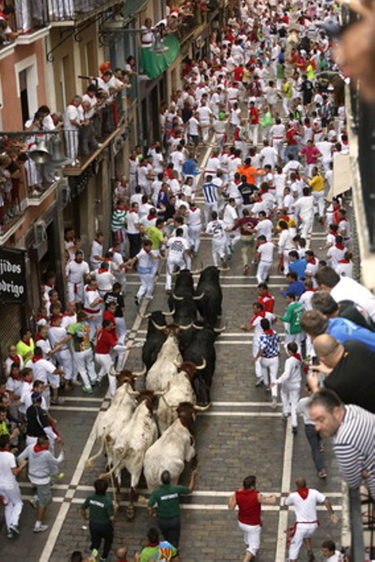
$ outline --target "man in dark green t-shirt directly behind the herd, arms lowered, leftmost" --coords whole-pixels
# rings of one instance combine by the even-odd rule
[[[108,483],[98,479],[94,482],[95,493],[85,499],[80,514],[84,520],[89,520],[91,535],[91,550],[94,558],[98,555],[102,539],[104,540],[102,559],[106,560],[113,542],[113,524],[118,505],[113,504],[110,497],[106,495]],[[87,517],[87,509],[89,516]]]

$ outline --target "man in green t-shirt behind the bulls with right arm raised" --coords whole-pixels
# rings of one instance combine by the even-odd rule
[[[148,500],[148,513],[153,514],[153,506],[157,504],[157,524],[166,541],[178,549],[180,540],[180,496],[191,493],[195,488],[198,471],[193,470],[189,486],[173,486],[170,483],[170,472],[161,473],[161,486],[156,488]]]

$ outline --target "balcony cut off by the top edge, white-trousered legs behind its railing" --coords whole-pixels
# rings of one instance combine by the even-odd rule
[[[106,11],[119,0],[48,0],[52,25],[75,25]]]

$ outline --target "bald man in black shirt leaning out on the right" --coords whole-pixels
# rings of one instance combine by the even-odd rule
[[[308,383],[319,389],[317,371],[323,373],[324,387],[335,391],[345,404],[356,404],[375,413],[375,352],[353,339],[344,344],[329,334],[314,339],[319,365],[313,367]]]

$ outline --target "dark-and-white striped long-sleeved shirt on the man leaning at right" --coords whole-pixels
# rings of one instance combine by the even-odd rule
[[[363,472],[375,497],[375,415],[360,406],[345,406],[345,414],[334,438],[333,448],[340,472],[350,488],[359,488]]]

